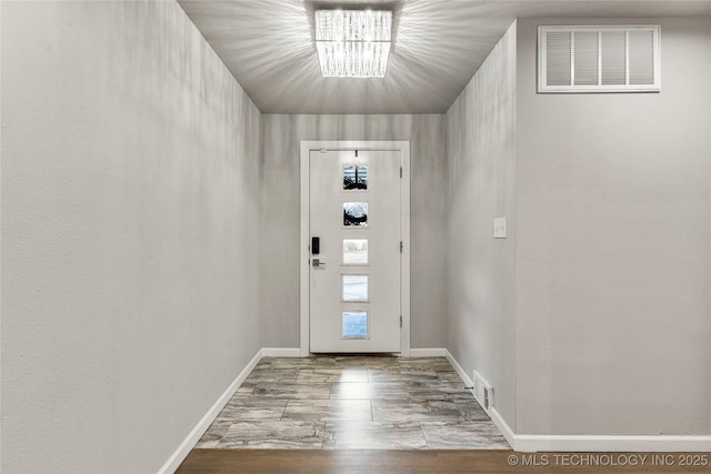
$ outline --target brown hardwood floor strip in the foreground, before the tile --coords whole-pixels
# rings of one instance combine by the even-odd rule
[[[178,470],[191,473],[309,473],[309,474],[454,474],[454,473],[541,473],[541,474],[627,474],[708,473],[709,466],[680,465],[689,453],[610,453],[612,458],[635,456],[643,462],[591,465],[595,453],[514,453],[504,450],[194,450]],[[653,456],[674,460],[661,465]],[[618,456],[618,457],[614,457]],[[647,456],[647,457],[643,457]],[[711,453],[698,453],[708,460]],[[624,465],[622,465],[624,464]]]

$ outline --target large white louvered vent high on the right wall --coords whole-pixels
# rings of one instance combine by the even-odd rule
[[[659,26],[539,27],[539,92],[650,92],[661,84]]]

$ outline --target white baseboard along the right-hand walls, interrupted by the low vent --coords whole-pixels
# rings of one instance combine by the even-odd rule
[[[467,386],[472,380],[454,356],[445,350],[447,360]],[[491,421],[501,431],[514,451],[535,452],[630,452],[630,453],[695,453],[711,452],[711,436],[688,435],[528,435],[515,434],[495,406],[491,407]]]

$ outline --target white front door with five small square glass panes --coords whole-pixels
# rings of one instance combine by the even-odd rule
[[[400,152],[309,162],[310,352],[400,352]]]

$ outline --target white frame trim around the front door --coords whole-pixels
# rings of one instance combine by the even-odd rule
[[[310,152],[313,150],[374,150],[399,151],[402,163],[402,185],[400,188],[400,235],[402,239],[402,261],[400,265],[400,307],[402,327],[400,330],[400,355],[410,356],[410,142],[409,141],[302,141],[301,142],[301,239],[300,239],[300,288],[301,288],[301,346],[302,357],[309,355],[310,347],[310,270],[309,245],[310,196]]]

